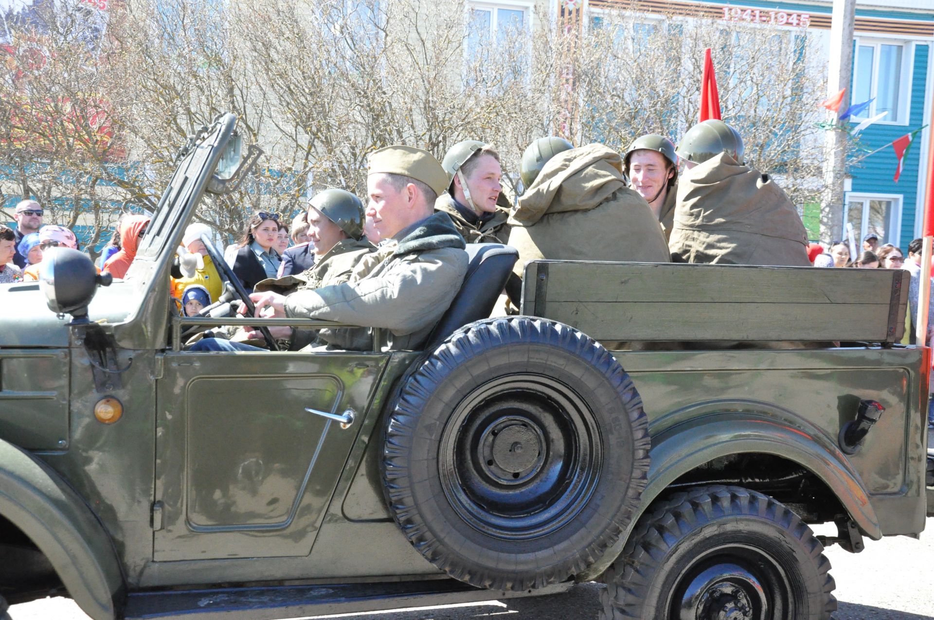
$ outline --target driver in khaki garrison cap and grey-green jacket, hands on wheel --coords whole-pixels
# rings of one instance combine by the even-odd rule
[[[375,151],[368,172],[366,216],[379,236],[377,251],[363,257],[343,284],[301,289],[289,297],[253,293],[250,299],[257,316],[322,318],[379,328],[375,345],[380,350],[417,348],[467,273],[463,237],[451,218],[433,210],[446,189],[447,174],[431,153],[406,146]],[[361,339],[353,345],[363,346]]]

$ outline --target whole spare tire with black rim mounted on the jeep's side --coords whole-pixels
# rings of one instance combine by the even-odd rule
[[[616,359],[567,325],[485,319],[403,377],[384,427],[389,510],[417,551],[477,587],[584,571],[639,503],[650,441]]]

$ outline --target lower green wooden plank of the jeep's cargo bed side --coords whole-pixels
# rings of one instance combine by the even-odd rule
[[[876,303],[548,302],[545,317],[596,340],[884,341]]]

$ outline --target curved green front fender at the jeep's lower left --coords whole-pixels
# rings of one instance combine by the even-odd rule
[[[94,620],[117,616],[125,586],[104,527],[57,472],[3,440],[0,514],[49,558],[84,613]]]

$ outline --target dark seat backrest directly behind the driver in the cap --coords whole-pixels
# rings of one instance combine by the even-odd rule
[[[519,258],[515,247],[502,244],[467,244],[470,263],[458,294],[428,337],[432,347],[467,323],[489,317],[506,280]]]

